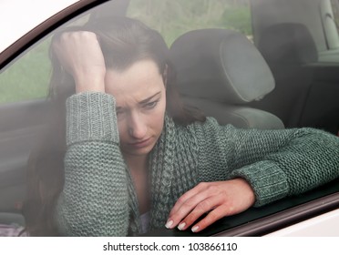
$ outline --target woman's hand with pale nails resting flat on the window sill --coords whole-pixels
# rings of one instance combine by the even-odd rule
[[[173,229],[178,226],[180,230],[191,228],[193,232],[199,232],[218,219],[249,209],[254,201],[254,192],[244,179],[201,182],[178,199],[170,211],[166,227]]]

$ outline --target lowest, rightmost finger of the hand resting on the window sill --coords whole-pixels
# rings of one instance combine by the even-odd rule
[[[217,207],[210,211],[210,213],[204,218],[201,219],[197,224],[195,224],[192,228],[192,232],[200,232],[201,230],[205,230],[207,227],[211,226],[215,221],[221,219],[225,216],[230,216],[231,209],[225,205]]]

